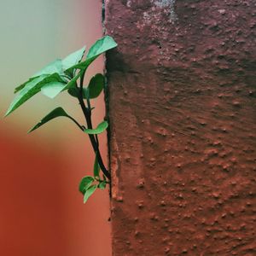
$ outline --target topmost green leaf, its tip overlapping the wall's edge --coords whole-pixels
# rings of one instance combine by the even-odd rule
[[[102,55],[102,53],[106,52],[108,49],[113,49],[116,46],[117,44],[114,42],[113,38],[109,36],[105,36],[97,40],[96,43],[90,47],[85,61],[81,61],[80,63],[74,65],[71,68],[79,68],[82,70],[86,70],[87,67],[89,67],[90,63],[96,60],[96,58],[99,55]]]

